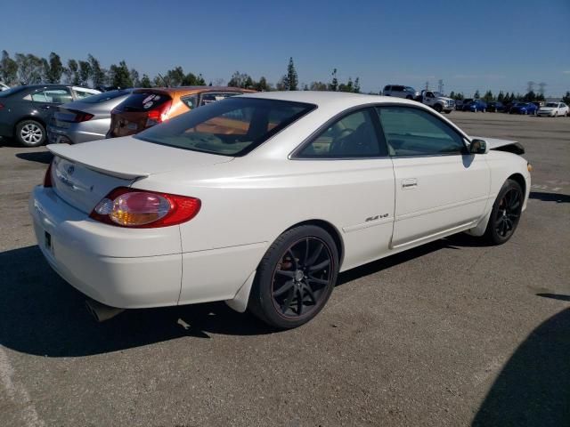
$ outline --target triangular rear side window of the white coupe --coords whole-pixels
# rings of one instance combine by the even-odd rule
[[[384,157],[372,118],[373,109],[362,109],[340,118],[300,151],[300,158]]]

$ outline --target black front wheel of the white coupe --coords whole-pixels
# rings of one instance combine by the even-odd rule
[[[503,184],[485,230],[485,239],[489,243],[502,245],[513,236],[520,220],[524,197],[517,181],[507,180]]]

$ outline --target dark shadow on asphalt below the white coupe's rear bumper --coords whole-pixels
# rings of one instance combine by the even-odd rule
[[[60,278],[37,246],[0,254],[0,344],[46,357],[79,357],[209,334],[275,331],[224,302],[126,310],[97,323],[85,296]]]

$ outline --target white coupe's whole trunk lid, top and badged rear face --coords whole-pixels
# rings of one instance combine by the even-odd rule
[[[52,182],[56,194],[85,214],[117,187],[155,173],[192,170],[232,161],[186,149],[166,147],[132,137],[48,145],[55,157]]]

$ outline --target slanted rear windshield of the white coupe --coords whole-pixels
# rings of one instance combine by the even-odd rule
[[[192,109],[138,133],[135,138],[179,149],[239,157],[315,108],[313,104],[301,102],[227,98]]]

